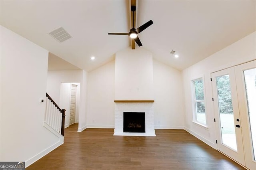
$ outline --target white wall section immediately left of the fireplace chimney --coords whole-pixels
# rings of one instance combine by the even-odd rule
[[[115,61],[88,73],[87,127],[114,128]]]

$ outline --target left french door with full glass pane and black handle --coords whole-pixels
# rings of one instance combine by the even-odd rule
[[[245,166],[234,67],[212,73],[218,150]]]

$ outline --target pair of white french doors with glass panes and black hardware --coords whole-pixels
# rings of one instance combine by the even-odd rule
[[[256,169],[256,60],[211,76],[218,150]]]

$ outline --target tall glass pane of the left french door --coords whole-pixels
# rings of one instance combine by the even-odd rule
[[[237,151],[229,75],[216,77],[222,143]]]

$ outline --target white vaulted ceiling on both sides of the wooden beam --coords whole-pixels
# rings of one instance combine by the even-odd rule
[[[0,24],[90,71],[131,45],[129,36],[108,35],[130,31],[129,10],[128,0],[1,0]],[[142,48],[178,70],[256,31],[255,0],[138,0],[136,12],[137,27],[154,22],[139,34]],[[54,40],[48,32],[59,27],[72,38]]]

